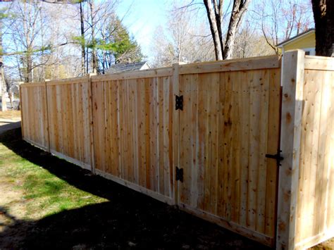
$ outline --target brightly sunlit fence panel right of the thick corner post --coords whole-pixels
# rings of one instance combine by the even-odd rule
[[[304,249],[334,237],[334,58],[306,56],[302,94],[295,244]]]

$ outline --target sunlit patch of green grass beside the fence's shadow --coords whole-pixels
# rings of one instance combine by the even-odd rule
[[[0,139],[0,189],[1,185],[7,185],[18,194],[18,197],[12,197],[14,200],[25,201],[22,219],[39,219],[64,210],[106,201],[22,158],[8,149],[4,140],[6,141],[6,137]],[[11,206],[15,206],[15,202],[8,201],[8,204],[0,206],[5,206],[11,212]]]

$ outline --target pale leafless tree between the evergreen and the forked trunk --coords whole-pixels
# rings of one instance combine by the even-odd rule
[[[168,12],[166,29],[157,27],[154,33],[154,65],[214,60],[214,45],[208,27],[197,20],[197,13],[175,4]]]

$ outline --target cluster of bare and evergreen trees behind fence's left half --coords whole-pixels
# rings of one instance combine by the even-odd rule
[[[105,73],[142,60],[118,1],[11,1],[1,8],[5,75],[22,82]]]

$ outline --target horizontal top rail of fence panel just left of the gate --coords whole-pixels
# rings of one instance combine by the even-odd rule
[[[163,77],[163,76],[171,76],[172,74],[173,74],[173,69],[171,67],[154,68],[149,70],[136,70],[128,73],[94,75],[92,76],[92,82],[127,80],[127,79],[148,78],[148,77]]]

